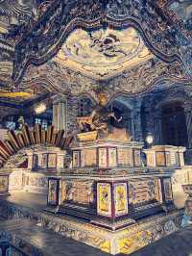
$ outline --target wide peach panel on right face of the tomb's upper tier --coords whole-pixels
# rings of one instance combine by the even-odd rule
[[[118,148],[118,165],[119,166],[133,166],[132,149]]]

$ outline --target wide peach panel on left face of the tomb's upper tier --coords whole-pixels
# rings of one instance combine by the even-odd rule
[[[96,166],[97,165],[97,152],[96,148],[85,148],[81,154],[81,166]]]

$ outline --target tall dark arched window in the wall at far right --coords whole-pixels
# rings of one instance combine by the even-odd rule
[[[161,136],[163,144],[187,146],[187,130],[184,109],[180,102],[161,108]]]

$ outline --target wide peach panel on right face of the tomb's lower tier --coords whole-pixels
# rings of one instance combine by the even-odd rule
[[[129,182],[129,203],[140,205],[162,202],[159,179],[135,180]]]

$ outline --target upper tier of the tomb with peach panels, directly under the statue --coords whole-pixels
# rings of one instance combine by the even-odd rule
[[[76,143],[73,152],[73,168],[112,168],[122,166],[142,166],[140,142],[117,142],[96,140]]]

